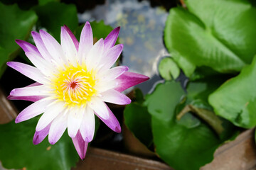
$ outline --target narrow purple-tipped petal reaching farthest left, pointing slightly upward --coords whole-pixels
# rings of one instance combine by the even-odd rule
[[[7,65],[34,81],[41,84],[46,82],[46,79],[43,78],[44,75],[36,67],[21,62],[7,62]]]

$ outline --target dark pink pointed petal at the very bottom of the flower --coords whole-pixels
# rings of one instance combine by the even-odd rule
[[[78,155],[81,159],[85,159],[85,154],[88,147],[88,142],[85,142],[82,139],[82,135],[80,134],[80,131],[78,131],[77,135],[72,138],[73,144],[75,146],[75,149],[78,152]]]

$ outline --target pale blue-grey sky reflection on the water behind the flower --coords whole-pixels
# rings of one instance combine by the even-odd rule
[[[163,42],[167,15],[164,8],[151,8],[149,1],[107,0],[92,11],[78,14],[78,18],[80,23],[103,20],[113,28],[121,26],[122,64],[131,72],[154,77],[159,58],[168,55]]]

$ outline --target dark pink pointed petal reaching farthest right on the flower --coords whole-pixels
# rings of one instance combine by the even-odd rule
[[[140,84],[148,79],[149,77],[146,77],[142,74],[137,74],[134,72],[124,72],[124,74],[117,77],[116,81],[118,83],[118,87],[114,89],[116,91],[122,92],[125,89]]]

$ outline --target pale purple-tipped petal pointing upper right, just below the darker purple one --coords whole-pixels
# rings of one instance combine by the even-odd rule
[[[102,66],[102,70],[110,69],[114,62],[117,61],[119,55],[121,55],[124,45],[114,45],[114,47],[110,48],[107,53],[104,54],[100,65]]]

